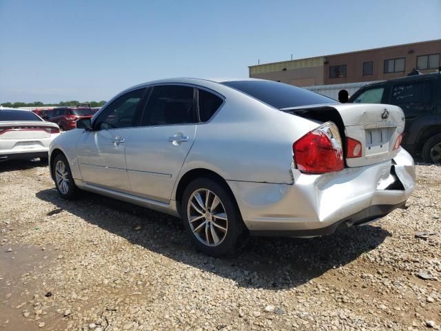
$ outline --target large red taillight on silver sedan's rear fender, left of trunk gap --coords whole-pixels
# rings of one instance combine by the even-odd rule
[[[292,146],[298,170],[309,174],[340,171],[344,168],[342,141],[333,122],[323,123]]]

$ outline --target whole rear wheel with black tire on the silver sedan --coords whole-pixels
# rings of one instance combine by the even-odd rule
[[[197,204],[196,195],[193,196],[193,194],[196,192],[200,193],[201,195],[199,197],[203,197],[203,202],[205,205],[207,205],[207,203],[205,203],[206,195],[204,195],[206,190],[209,191],[209,199],[211,197],[211,200],[209,200],[208,203],[209,207],[203,210],[201,205]],[[220,203],[218,203],[217,206],[211,210],[210,208],[214,205],[213,202],[215,197],[220,200]],[[190,217],[192,217],[191,213],[194,212],[195,218],[196,216],[200,217],[199,215],[201,214],[198,214],[194,207],[189,206],[190,199],[192,199],[192,202],[196,204],[196,207],[204,212],[205,215],[207,215],[207,210],[209,214],[208,216],[202,217],[200,220],[193,221],[192,225],[190,225],[189,222],[188,212],[190,212]],[[226,214],[225,221],[223,219],[217,219],[216,217],[216,215],[222,215],[223,211]],[[212,257],[220,257],[228,252],[232,252],[232,250],[236,248],[236,243],[240,233],[243,232],[243,221],[240,217],[240,212],[236,206],[234,197],[232,197],[229,190],[225,188],[225,184],[223,185],[218,183],[214,179],[195,179],[189,183],[189,185],[187,185],[181,203],[181,216],[183,219],[184,228],[196,249]],[[198,230],[194,232],[194,230],[196,230],[198,226],[204,222],[205,225],[202,225],[202,231]],[[227,229],[225,233],[223,230],[220,230],[220,226]],[[212,231],[215,233],[212,233]],[[205,243],[203,243],[204,237],[207,237],[205,234],[207,234],[208,239],[205,240]],[[221,236],[222,239],[219,240]],[[218,239],[218,243],[215,243],[215,237]],[[210,243],[210,241],[212,241],[212,243]],[[209,244],[207,244],[207,242]]]

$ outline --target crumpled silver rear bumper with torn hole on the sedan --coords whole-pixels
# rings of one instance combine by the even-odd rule
[[[293,174],[292,185],[228,181],[251,234],[314,237],[370,223],[402,207],[415,186],[413,159],[402,148],[374,165]]]

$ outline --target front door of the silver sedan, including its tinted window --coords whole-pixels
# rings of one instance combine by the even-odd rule
[[[85,183],[130,192],[125,165],[125,146],[142,109],[145,88],[116,98],[85,130],[77,143],[81,175]]]

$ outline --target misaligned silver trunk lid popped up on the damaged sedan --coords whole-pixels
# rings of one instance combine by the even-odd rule
[[[404,130],[404,113],[400,107],[378,103],[346,103],[282,110],[317,121],[337,122],[348,167],[380,163],[393,159],[398,154],[398,149],[393,150],[393,147]],[[347,137],[361,143],[361,157],[346,157]]]

